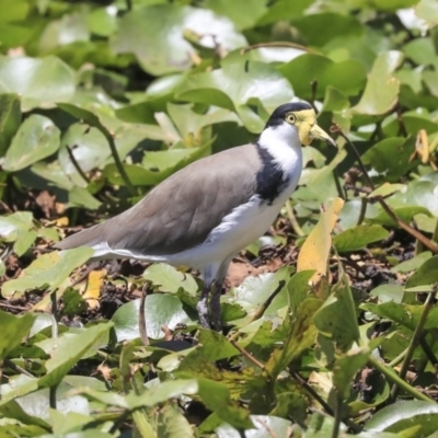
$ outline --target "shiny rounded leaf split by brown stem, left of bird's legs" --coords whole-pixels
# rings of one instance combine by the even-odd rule
[[[112,321],[118,342],[136,339],[140,336],[138,314],[140,300],[129,301],[114,313]],[[183,310],[183,303],[171,295],[154,293],[146,297],[145,303],[146,330],[148,336],[159,339],[164,336],[161,327],[175,328],[177,324],[191,324],[192,320]]]

